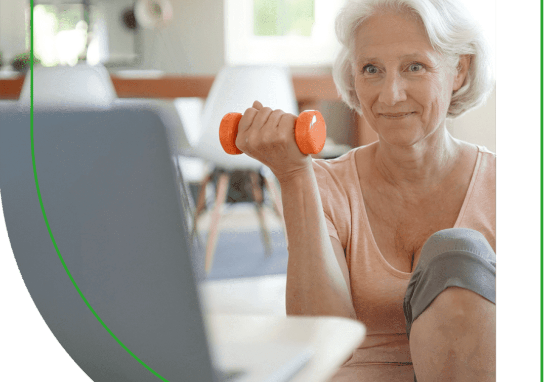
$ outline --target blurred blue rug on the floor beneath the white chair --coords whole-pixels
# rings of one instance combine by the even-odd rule
[[[194,241],[194,264],[198,280],[258,277],[284,274],[288,249],[283,231],[269,231],[272,253],[268,257],[259,231],[219,232],[211,271],[205,275],[206,236]]]

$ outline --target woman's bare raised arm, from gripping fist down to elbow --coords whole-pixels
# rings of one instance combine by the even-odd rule
[[[241,117],[235,145],[275,174],[281,184],[288,236],[286,312],[356,318],[339,241],[326,226],[311,157],[299,151],[296,117],[254,102]]]

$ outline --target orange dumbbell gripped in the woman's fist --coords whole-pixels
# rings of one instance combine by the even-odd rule
[[[242,154],[235,146],[239,121],[242,114],[228,113],[220,122],[220,143],[228,154]],[[326,142],[326,124],[321,112],[316,110],[302,111],[294,124],[296,145],[304,154],[318,154]]]

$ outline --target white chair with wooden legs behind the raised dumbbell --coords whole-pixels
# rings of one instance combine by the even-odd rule
[[[265,186],[269,189],[274,200],[274,209],[284,226],[280,190],[276,187],[271,170],[245,154],[234,156],[225,153],[219,141],[218,128],[222,117],[228,112],[244,113],[255,100],[259,100],[264,106],[271,109],[281,109],[298,115],[298,104],[288,68],[276,66],[224,67],[215,77],[206,99],[201,115],[202,133],[199,135],[199,139],[185,150],[187,156],[199,157],[215,165],[215,171],[205,176],[201,182],[200,195],[194,214],[194,232],[199,215],[205,206],[206,185],[214,177],[218,178],[216,201],[211,211],[211,224],[205,249],[206,271],[209,271],[212,266],[218,236],[218,222],[228,193],[230,176],[234,171],[247,171],[251,179],[266,254],[271,252],[271,247],[262,208],[263,194],[259,185],[260,174],[265,179]],[[186,135],[189,134],[186,133]]]

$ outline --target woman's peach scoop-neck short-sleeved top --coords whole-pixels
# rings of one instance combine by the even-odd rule
[[[373,238],[360,189],[355,148],[336,159],[313,161],[330,236],[346,251],[351,293],[366,338],[332,379],[412,381],[410,343],[402,309],[411,273],[384,259]],[[478,146],[470,186],[455,227],[481,232],[496,251],[496,157]]]

